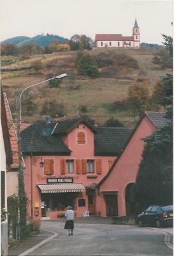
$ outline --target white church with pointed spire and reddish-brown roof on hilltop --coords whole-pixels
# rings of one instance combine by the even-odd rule
[[[133,36],[122,36],[122,34],[96,34],[95,44],[97,48],[105,47],[140,47],[140,28],[135,19]]]

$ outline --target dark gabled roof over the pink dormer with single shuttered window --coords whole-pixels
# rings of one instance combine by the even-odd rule
[[[63,118],[62,120],[59,120],[55,124],[52,134],[68,134],[68,132],[74,129],[76,125],[81,123],[87,125],[93,132],[96,132],[96,129],[85,118],[82,116],[75,116],[73,118]]]

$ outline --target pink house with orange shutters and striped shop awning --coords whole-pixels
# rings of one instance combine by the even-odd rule
[[[24,183],[31,218],[57,219],[68,205],[77,217],[97,214],[96,184],[133,130],[94,127],[84,117],[36,121],[21,131]]]

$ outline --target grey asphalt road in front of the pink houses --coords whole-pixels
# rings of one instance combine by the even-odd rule
[[[42,221],[41,229],[56,232],[58,236],[30,255],[173,255],[173,250],[164,244],[164,234],[157,228],[75,223],[74,235],[68,236],[64,223]]]

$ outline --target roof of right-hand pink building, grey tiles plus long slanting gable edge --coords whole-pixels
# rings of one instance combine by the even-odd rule
[[[120,152],[119,156],[115,159],[114,163],[112,164],[110,170],[108,171],[108,173],[106,173],[105,177],[103,177],[103,179],[100,180],[100,182],[96,185],[96,187],[99,187],[101,184],[103,184],[103,182],[106,180],[106,178],[110,175],[110,173],[112,172],[115,164],[117,164],[117,162],[119,161],[120,156],[122,156],[122,154],[124,152],[124,149],[127,147],[127,144],[129,143],[129,141],[133,137],[134,132],[136,131],[136,129],[140,125],[140,123],[143,120],[143,118],[145,116],[147,116],[150,119],[150,121],[156,126],[156,128],[160,129],[161,127],[164,127],[164,125],[167,125],[168,122],[169,122],[166,118],[164,118],[165,115],[166,115],[165,113],[161,113],[161,112],[149,112],[149,111],[146,111],[144,113],[144,115],[140,118],[140,120],[139,120],[138,124],[136,125],[136,127],[133,129],[131,135],[129,136],[129,139],[125,143],[124,148]],[[154,122],[156,122],[156,124]]]

